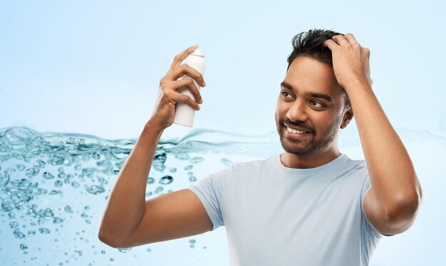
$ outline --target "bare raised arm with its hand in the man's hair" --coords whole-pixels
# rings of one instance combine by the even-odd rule
[[[371,88],[370,51],[352,34],[333,36],[326,46],[336,79],[350,98],[370,175],[365,215],[384,235],[404,232],[415,221],[422,190],[408,152]]]

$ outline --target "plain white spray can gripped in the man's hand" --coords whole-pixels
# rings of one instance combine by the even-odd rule
[[[188,66],[195,68],[195,70],[197,70],[199,73],[202,74],[202,76],[204,76],[204,68],[206,66],[206,62],[204,61],[203,52],[199,48],[195,49],[195,51],[190,53],[189,56],[185,58],[185,63]],[[183,78],[191,78],[191,77],[185,75],[182,77],[182,79]],[[195,81],[195,79],[192,79],[192,81],[194,81],[194,84],[195,86],[197,86],[199,91],[201,87],[198,85],[197,81]],[[179,91],[179,93],[185,94],[195,100],[194,96],[189,91],[189,88],[183,88],[182,90]],[[175,116],[173,118],[173,123],[182,126],[192,127],[194,123],[194,117],[195,117],[195,109],[189,106],[187,103],[175,104]]]

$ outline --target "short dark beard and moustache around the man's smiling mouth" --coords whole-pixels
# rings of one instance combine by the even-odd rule
[[[279,133],[282,148],[284,148],[287,153],[292,153],[295,155],[312,155],[319,153],[322,150],[326,150],[326,148],[328,148],[328,146],[331,145],[331,143],[333,143],[337,137],[338,126],[341,123],[341,119],[342,116],[339,116],[335,121],[333,121],[333,123],[326,125],[324,128],[318,129],[318,131],[314,131],[313,129],[308,128],[308,126],[306,126],[304,123],[299,123],[299,121],[293,123],[288,118],[279,118],[278,123],[276,123],[276,127],[277,133]],[[286,131],[287,129],[284,123],[310,131],[308,134],[311,134],[312,138],[311,136],[307,136],[301,140],[286,138],[284,136],[284,130]],[[319,133],[319,135],[322,137],[320,139],[314,138],[316,133]]]

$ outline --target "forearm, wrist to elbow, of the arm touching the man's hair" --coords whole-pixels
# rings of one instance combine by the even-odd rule
[[[367,81],[346,86],[368,166],[370,182],[389,215],[418,208],[421,188],[403,142]],[[416,205],[416,206],[415,206]]]

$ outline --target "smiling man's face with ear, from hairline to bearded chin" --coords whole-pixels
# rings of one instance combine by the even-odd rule
[[[343,97],[330,65],[306,56],[294,59],[276,106],[276,127],[284,150],[311,155],[336,148],[339,128],[345,128],[353,117],[351,109],[343,110]],[[306,133],[290,133],[286,126]]]

